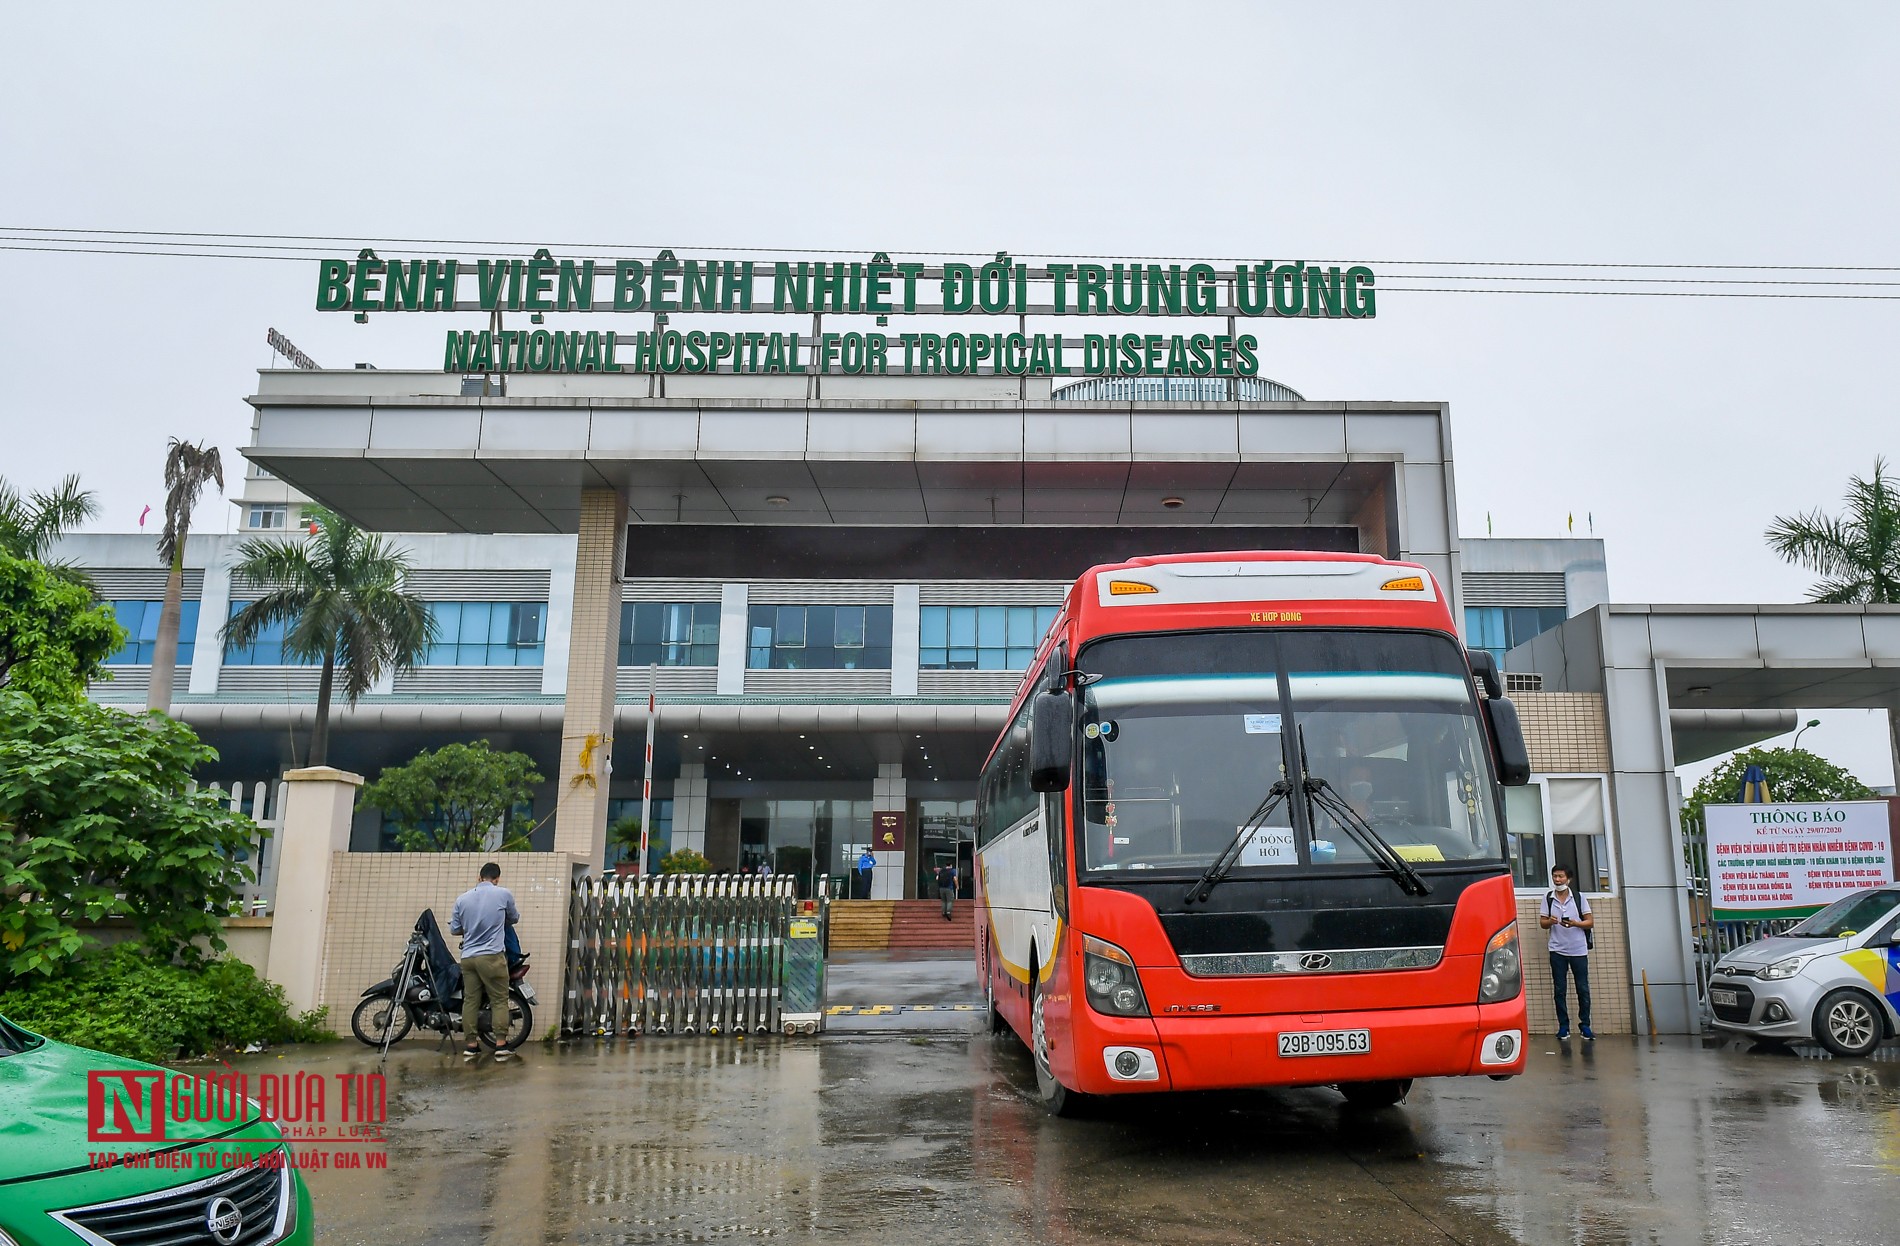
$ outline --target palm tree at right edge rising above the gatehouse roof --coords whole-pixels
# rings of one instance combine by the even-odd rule
[[[1900,481],[1887,475],[1887,460],[1873,458],[1873,477],[1847,479],[1847,511],[1776,517],[1767,530],[1769,549],[1803,566],[1820,583],[1809,589],[1816,602],[1900,602]],[[1900,775],[1900,707],[1887,708],[1889,748]]]

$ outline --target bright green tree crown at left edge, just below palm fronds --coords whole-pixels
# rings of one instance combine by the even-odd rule
[[[104,661],[122,644],[125,629],[91,589],[0,551],[0,689],[82,697],[89,680],[106,678]]]

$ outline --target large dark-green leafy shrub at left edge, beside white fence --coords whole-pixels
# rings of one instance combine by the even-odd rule
[[[0,689],[0,976],[51,974],[86,923],[124,917],[148,950],[222,948],[255,824],[192,773],[217,752],[162,714]]]

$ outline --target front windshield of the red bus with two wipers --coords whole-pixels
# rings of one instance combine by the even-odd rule
[[[1091,644],[1079,665],[1100,676],[1083,689],[1085,872],[1199,872],[1256,822],[1235,876],[1364,870],[1374,857],[1340,824],[1341,802],[1419,868],[1503,857],[1450,638],[1125,636]],[[1294,796],[1265,811],[1281,779]],[[1311,794],[1319,781],[1338,800]]]

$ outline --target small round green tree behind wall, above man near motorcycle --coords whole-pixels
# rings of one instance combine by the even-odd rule
[[[361,803],[397,822],[397,843],[408,853],[479,853],[488,832],[502,828],[502,847],[521,847],[511,836],[515,805],[534,800],[542,773],[521,752],[494,752],[488,741],[443,745],[391,765],[363,788]]]

